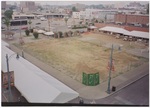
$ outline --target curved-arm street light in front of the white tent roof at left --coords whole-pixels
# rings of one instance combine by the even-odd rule
[[[11,102],[11,96],[12,96],[12,93],[11,93],[11,85],[10,85],[10,71],[9,71],[9,59],[15,54],[12,54],[8,57],[8,54],[6,54],[6,63],[7,63],[7,72],[8,72],[8,90],[9,90],[9,102]],[[19,59],[19,55],[17,53],[17,56],[16,56],[16,59]]]

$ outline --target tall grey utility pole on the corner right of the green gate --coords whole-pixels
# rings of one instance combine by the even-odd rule
[[[109,67],[109,76],[108,76],[108,88],[107,93],[110,94],[110,81],[111,81],[111,70],[112,70],[112,55],[113,55],[113,44],[110,53],[110,67]]]

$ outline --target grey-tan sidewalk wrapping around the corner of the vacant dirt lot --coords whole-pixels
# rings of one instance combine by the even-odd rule
[[[10,45],[10,48],[21,55],[21,50],[15,47],[14,45]],[[40,60],[36,59],[35,57],[27,53],[24,53],[24,56],[25,59],[27,59],[34,65],[38,66],[43,71],[55,77],[56,79],[66,84],[73,90],[77,91],[79,93],[79,96],[84,99],[92,99],[92,100],[101,99],[110,95],[106,93],[108,85],[107,81],[97,86],[85,86],[80,82],[66,76],[65,74],[59,72],[55,68],[48,66],[47,64],[41,62]],[[116,78],[112,78],[111,87],[115,86],[116,90],[119,90],[124,86],[126,86],[127,84],[135,81],[136,79],[148,74],[148,72],[149,72],[149,63],[145,63],[134,70],[128,71],[127,73],[122,74]]]

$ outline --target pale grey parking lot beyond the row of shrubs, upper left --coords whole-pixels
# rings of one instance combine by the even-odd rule
[[[10,30],[20,33],[20,30],[21,30],[21,32],[24,32],[26,27],[30,28],[30,26],[31,26],[31,28],[39,28],[39,29],[44,29],[44,30],[49,31],[49,25],[50,25],[50,31],[64,32],[64,31],[70,30],[68,26],[71,26],[73,24],[79,24],[78,19],[73,20],[72,18],[68,19],[67,25],[66,25],[64,19],[59,19],[59,20],[49,19],[49,21],[48,20],[41,21],[40,19],[32,19],[31,22],[32,22],[31,25],[28,24],[28,25],[21,25],[21,26],[10,26]],[[2,24],[2,31],[5,31],[6,29],[7,29],[6,25]]]

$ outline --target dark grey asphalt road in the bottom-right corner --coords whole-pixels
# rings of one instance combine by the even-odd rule
[[[96,103],[107,105],[149,105],[149,74],[119,92],[97,100]]]

